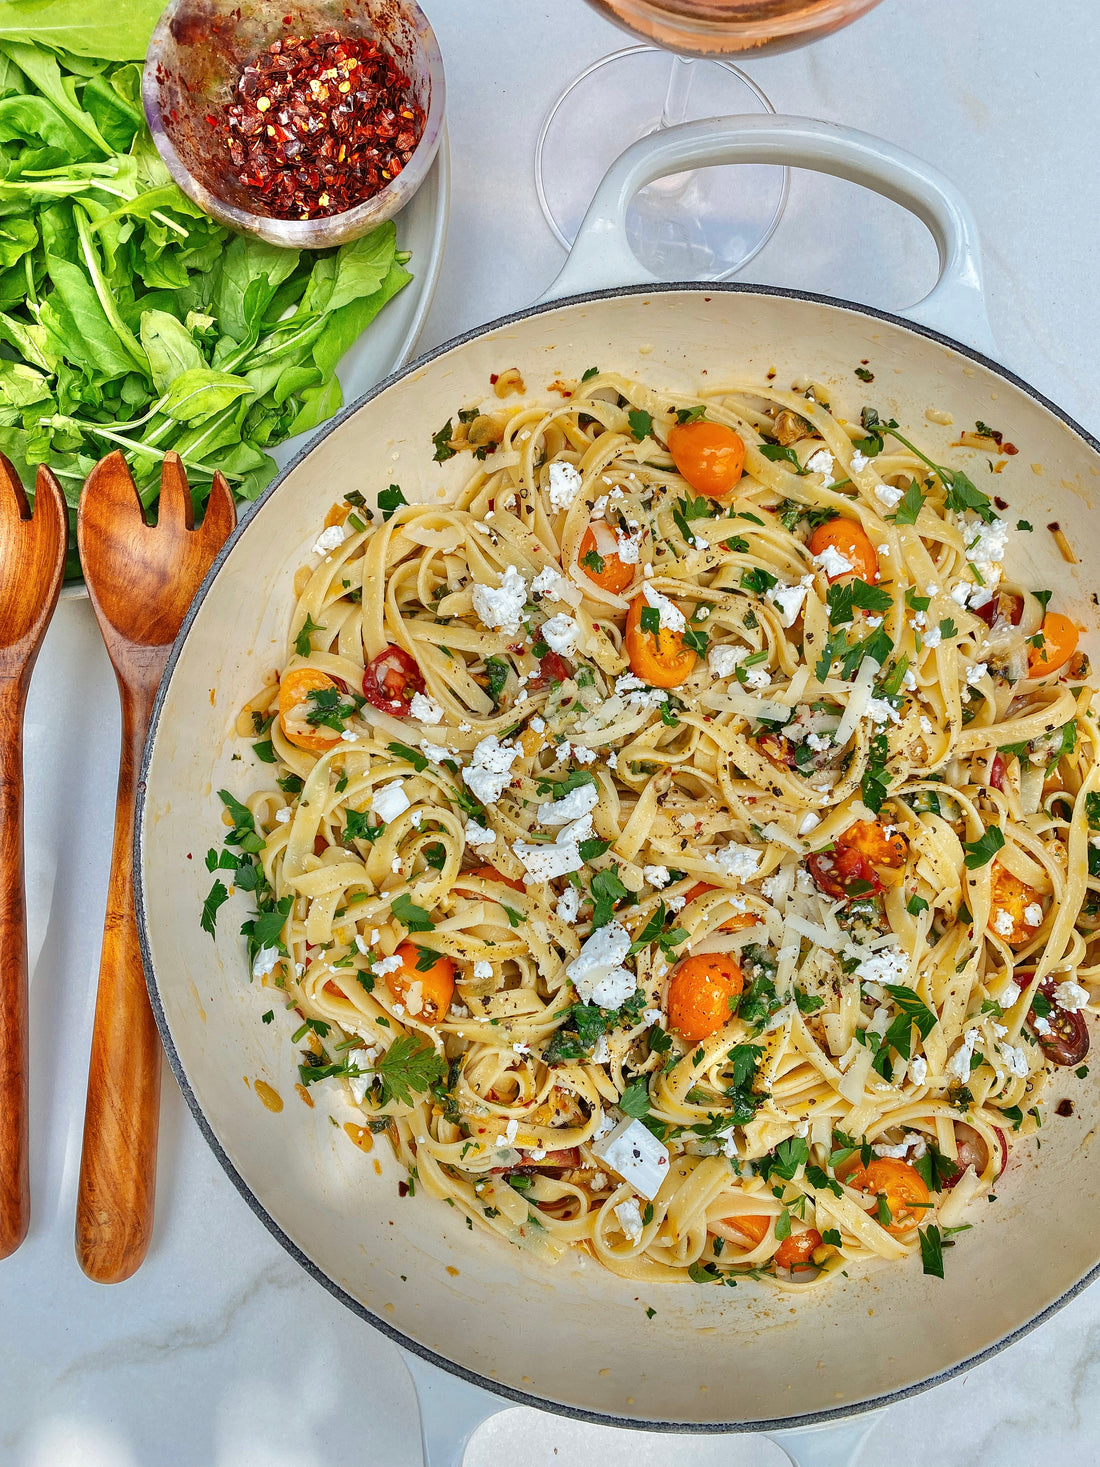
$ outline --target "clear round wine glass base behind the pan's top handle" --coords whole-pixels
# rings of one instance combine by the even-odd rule
[[[670,67],[653,45],[594,62],[547,113],[535,147],[535,189],[546,222],[569,249],[597,185],[632,142],[661,126]],[[682,122],[774,111],[729,62],[692,60]],[[657,179],[632,200],[626,229],[638,261],[661,280],[725,280],[770,239],[789,175],[773,164],[694,169]]]

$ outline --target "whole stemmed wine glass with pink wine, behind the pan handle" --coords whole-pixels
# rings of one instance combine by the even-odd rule
[[[597,183],[638,138],[700,117],[774,111],[730,56],[805,45],[877,3],[588,0],[656,45],[632,45],[594,62],[547,113],[535,145],[535,189],[559,242],[572,245]],[[788,170],[773,164],[657,179],[631,204],[631,248],[660,279],[722,280],[763,249],[786,195]]]

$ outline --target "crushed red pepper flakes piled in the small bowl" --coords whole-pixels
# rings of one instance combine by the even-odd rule
[[[207,122],[241,186],[274,219],[362,204],[402,172],[424,132],[424,110],[393,57],[339,31],[274,41],[233,91],[221,120]]]

